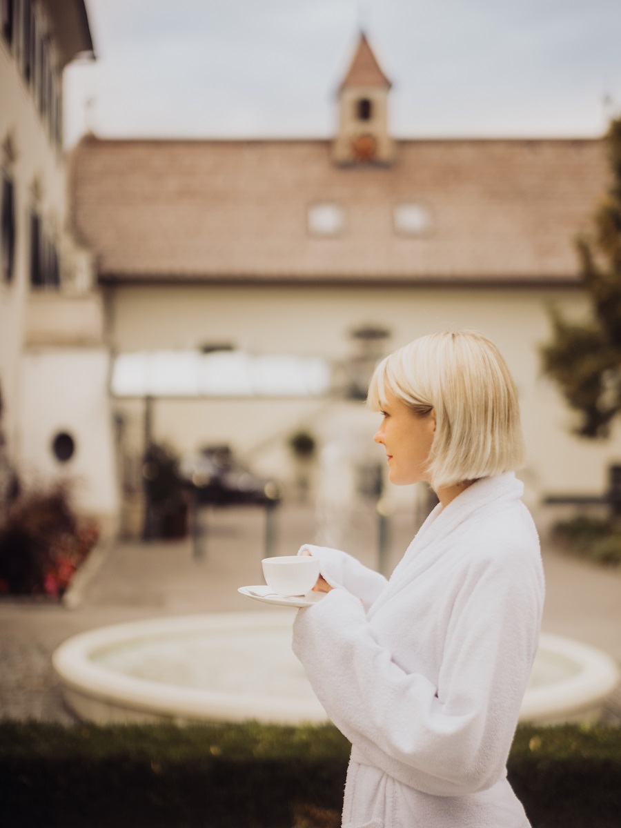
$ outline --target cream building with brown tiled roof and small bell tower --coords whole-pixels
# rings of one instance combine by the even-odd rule
[[[149,439],[226,443],[286,479],[300,428],[346,499],[381,460],[359,399],[374,359],[451,327],[508,359],[531,503],[604,489],[619,432],[572,436],[538,360],[546,306],[585,310],[573,238],[606,185],[602,142],[397,141],[390,85],[362,35],[333,140],[79,142],[70,224],[103,292],[126,503]],[[312,366],[330,379],[291,380]]]

